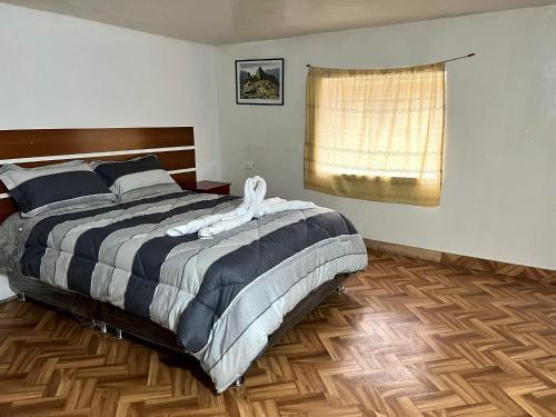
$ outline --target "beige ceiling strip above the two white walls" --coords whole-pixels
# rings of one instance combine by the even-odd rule
[[[222,44],[556,4],[556,0],[7,0],[190,41]]]

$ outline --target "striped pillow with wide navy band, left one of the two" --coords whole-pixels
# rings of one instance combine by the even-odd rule
[[[39,168],[4,165],[0,180],[22,217],[117,201],[89,165],[79,160]]]

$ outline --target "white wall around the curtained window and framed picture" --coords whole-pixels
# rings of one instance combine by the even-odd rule
[[[305,64],[447,64],[437,208],[304,190]],[[235,105],[234,60],[285,58],[284,107]],[[217,49],[222,176],[338,209],[367,238],[556,269],[556,8],[522,9]],[[244,170],[244,160],[255,160]]]

